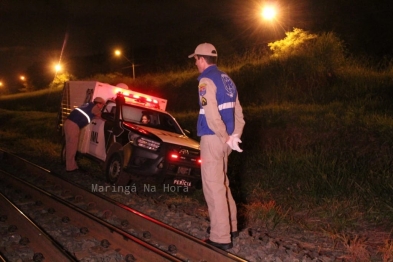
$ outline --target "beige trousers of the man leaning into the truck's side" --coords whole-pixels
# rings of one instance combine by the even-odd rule
[[[76,151],[78,150],[80,129],[71,120],[64,121],[64,134],[66,139],[66,170],[72,171],[78,168],[75,161]]]

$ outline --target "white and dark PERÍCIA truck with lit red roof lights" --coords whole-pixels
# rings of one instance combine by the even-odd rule
[[[167,100],[97,81],[68,81],[62,94],[58,129],[70,112],[102,97],[101,118],[81,130],[78,155],[101,163],[113,185],[129,185],[144,179],[168,186],[200,187],[199,143],[190,138],[176,119],[165,111]],[[148,117],[149,123],[142,122]],[[65,163],[65,142],[61,151]]]

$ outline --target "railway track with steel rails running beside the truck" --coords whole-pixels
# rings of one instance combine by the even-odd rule
[[[18,239],[0,261],[246,261],[14,154],[0,166],[1,234]]]

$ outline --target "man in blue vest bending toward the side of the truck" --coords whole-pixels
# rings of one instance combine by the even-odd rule
[[[80,130],[87,126],[93,117],[101,116],[101,109],[104,105],[105,100],[102,97],[96,97],[93,102],[85,103],[72,110],[64,121],[67,172],[74,172],[79,169],[75,161],[75,155],[78,150]]]

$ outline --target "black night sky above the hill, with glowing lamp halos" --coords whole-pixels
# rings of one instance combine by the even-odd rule
[[[258,18],[261,3],[2,0],[0,81],[10,85],[21,74],[54,74],[52,67],[60,56],[76,75],[83,75],[82,61],[94,59],[96,64],[107,64],[105,70],[121,71],[124,65],[113,58],[116,48],[140,63],[141,70],[148,71],[150,65],[157,71],[165,61],[188,63],[187,55],[201,42],[211,42],[219,55],[227,55],[281,39],[284,29],[292,27],[312,33],[333,31],[354,54],[378,58],[393,54],[393,1],[277,0],[286,15],[275,24]],[[85,74],[94,70],[104,69],[91,66]]]

